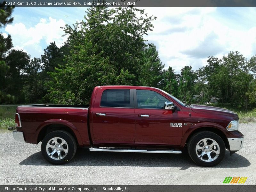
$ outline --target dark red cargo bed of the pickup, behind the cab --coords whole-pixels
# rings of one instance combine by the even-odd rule
[[[61,128],[71,130],[81,146],[90,145],[87,118],[89,105],[21,105],[16,109],[20,116],[25,141],[37,144],[44,132]]]

